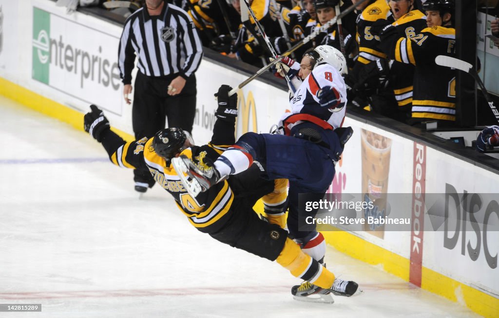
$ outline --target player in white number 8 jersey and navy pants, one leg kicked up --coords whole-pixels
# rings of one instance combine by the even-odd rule
[[[291,98],[291,112],[281,117],[279,133],[246,133],[209,167],[200,167],[184,156],[172,159],[172,163],[176,171],[189,175],[190,180],[184,178],[184,187],[194,195],[229,175],[248,169],[253,161],[261,164],[269,179],[288,179],[289,236],[300,244],[303,252],[323,263],[324,238],[316,231],[315,224],[304,222],[307,217],[314,217],[317,210],[300,210],[298,194],[306,194],[306,201],[322,199],[334,178],[334,165],[352,129],[341,128],[347,101],[346,85],[341,77],[346,69],[343,54],[332,46],[321,45],[305,53],[305,58],[303,66],[306,67],[299,73],[303,76],[307,70],[311,69],[311,72],[304,76]],[[297,65],[290,64],[297,70]],[[344,288],[350,293],[357,290],[357,284],[348,284],[352,286]],[[294,286],[291,292],[297,299],[308,299],[310,295],[329,297],[326,296],[328,290],[306,282]]]

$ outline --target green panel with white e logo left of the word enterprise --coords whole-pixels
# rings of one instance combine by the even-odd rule
[[[48,84],[50,62],[50,13],[33,7],[33,79]]]

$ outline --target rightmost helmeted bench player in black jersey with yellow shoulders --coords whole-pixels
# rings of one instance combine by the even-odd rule
[[[435,57],[455,55],[454,0],[427,0],[423,9],[427,28],[401,36],[389,26],[380,34],[380,45],[397,62],[415,66],[411,122],[437,120],[440,126],[452,126],[456,120],[456,71],[435,64]]]

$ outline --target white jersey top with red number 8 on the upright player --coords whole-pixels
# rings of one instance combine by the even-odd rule
[[[321,107],[317,92],[322,88],[330,86],[340,95],[339,111],[333,112],[328,107]],[[321,64],[303,80],[293,97],[289,101],[292,114],[310,114],[327,121],[333,128],[341,127],[345,117],[347,102],[346,85],[341,74],[329,64]],[[289,116],[284,113],[281,120]]]

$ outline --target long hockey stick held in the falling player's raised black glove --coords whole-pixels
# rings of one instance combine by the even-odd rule
[[[270,63],[268,63],[267,65],[263,66],[262,68],[260,68],[259,70],[256,71],[256,73],[254,73],[253,75],[251,75],[250,77],[248,77],[247,79],[245,79],[243,82],[241,82],[238,87],[236,88],[233,88],[230,92],[229,92],[229,96],[231,95],[234,95],[235,93],[238,92],[238,89],[239,88],[243,88],[245,87],[246,85],[248,85],[249,82],[251,82],[253,79],[255,79],[256,77],[260,76],[261,74],[263,74],[263,72],[265,70],[267,70],[268,68],[272,67],[273,65],[277,64],[278,62],[280,62],[280,60],[283,58],[283,57],[286,57],[286,56],[289,56],[289,54],[291,54],[292,52],[296,51],[298,48],[300,48],[301,46],[303,46],[304,44],[310,42],[311,40],[313,40],[320,32],[322,31],[325,31],[327,30],[328,28],[330,28],[332,25],[334,25],[334,23],[336,23],[336,20],[338,18],[342,18],[344,17],[345,15],[347,15],[348,13],[350,13],[351,11],[353,11],[355,9],[355,7],[357,5],[360,5],[361,3],[365,2],[367,0],[360,0],[359,2],[357,3],[354,3],[352,5],[350,5],[349,7],[347,7],[343,12],[341,12],[339,15],[336,15],[335,17],[333,17],[332,19],[330,19],[329,21],[327,21],[324,25],[322,25],[321,27],[319,28],[316,28],[312,33],[310,33],[309,35],[305,36],[304,38],[302,38],[299,42],[297,42],[296,44],[294,44],[290,49],[288,49],[287,51],[285,51],[284,53],[282,53],[281,55],[279,55],[276,59],[274,59],[273,61],[271,61]]]

